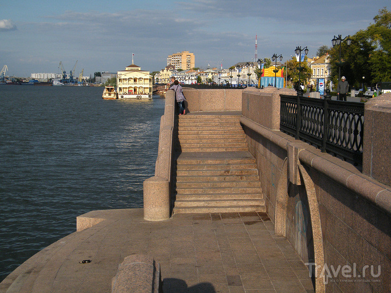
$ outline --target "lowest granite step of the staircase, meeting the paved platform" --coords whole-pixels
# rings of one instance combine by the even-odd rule
[[[265,212],[264,205],[256,206],[226,206],[226,207],[182,207],[173,209],[173,213],[226,213],[226,212]]]

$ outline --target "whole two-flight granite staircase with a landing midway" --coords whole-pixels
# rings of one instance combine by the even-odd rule
[[[174,213],[265,211],[239,115],[179,116]]]

